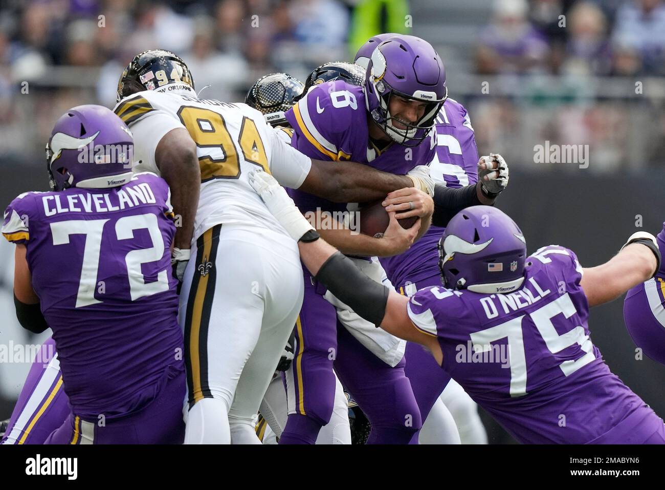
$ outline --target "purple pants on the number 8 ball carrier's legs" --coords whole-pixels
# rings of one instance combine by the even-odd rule
[[[338,322],[334,306],[322,296],[325,290],[317,292],[303,269],[305,298],[296,324],[295,358],[286,373],[291,413],[279,443],[315,443],[332,414],[333,367],[372,423],[367,443],[408,443],[422,421],[404,360],[390,367],[362,346]]]

